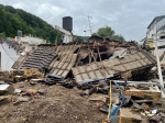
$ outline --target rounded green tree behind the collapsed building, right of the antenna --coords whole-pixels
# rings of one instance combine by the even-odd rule
[[[117,35],[116,32],[110,26],[100,27],[98,32],[94,33],[92,35],[103,36],[103,37],[109,36],[112,40],[124,41],[124,37],[122,35]]]

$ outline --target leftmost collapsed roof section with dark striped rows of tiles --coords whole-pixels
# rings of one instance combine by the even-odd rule
[[[56,57],[55,53],[44,49],[34,49],[31,54],[20,56],[18,62],[13,65],[14,69],[31,69],[36,68],[44,71],[50,66],[52,60]]]

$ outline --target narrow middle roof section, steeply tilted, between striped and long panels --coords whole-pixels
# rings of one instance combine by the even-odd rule
[[[74,52],[78,47],[79,45],[58,46],[56,49],[58,59],[52,62],[50,72],[66,78],[77,60],[77,54],[74,54]]]

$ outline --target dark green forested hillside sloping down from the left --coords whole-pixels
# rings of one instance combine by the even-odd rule
[[[10,5],[0,4],[0,33],[8,37],[16,36],[18,30],[23,31],[23,35],[33,35],[43,37],[52,43],[61,37],[57,31],[36,15],[25,12],[21,9],[14,9]]]

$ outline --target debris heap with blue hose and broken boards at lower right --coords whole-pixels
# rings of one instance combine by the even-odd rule
[[[153,86],[147,82],[128,81],[124,86],[124,81],[113,80],[112,82],[118,86],[111,86],[111,100],[110,97],[107,97],[106,103],[100,107],[100,111],[109,113],[109,104],[110,101],[112,102],[111,120],[117,118],[119,112],[122,122],[160,123],[165,120],[162,116],[165,112],[163,110],[162,92],[156,86],[157,83]],[[119,90],[122,90],[121,94],[119,94]],[[120,119],[118,116],[118,120]]]

